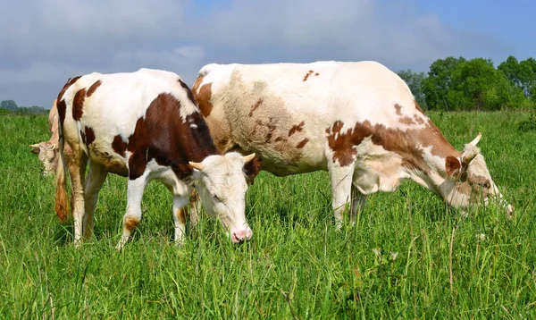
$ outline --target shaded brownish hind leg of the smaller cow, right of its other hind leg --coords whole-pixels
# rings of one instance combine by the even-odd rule
[[[108,172],[106,172],[99,164],[89,160],[89,173],[85,189],[86,215],[84,219],[84,237],[90,236],[93,232],[98,191],[102,188],[103,183],[105,183],[107,175]]]

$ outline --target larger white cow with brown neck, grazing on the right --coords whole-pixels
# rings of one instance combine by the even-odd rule
[[[192,89],[221,152],[255,152],[277,176],[327,170],[338,221],[405,178],[456,208],[494,196],[513,210],[476,147],[481,135],[456,151],[380,63],[211,63]]]

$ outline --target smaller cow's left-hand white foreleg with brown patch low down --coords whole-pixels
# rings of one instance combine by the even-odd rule
[[[141,176],[134,180],[129,180],[127,188],[127,213],[123,216],[123,234],[121,240],[115,248],[121,250],[130,238],[130,233],[141,221],[141,198],[143,190],[147,186],[148,172],[145,171]]]

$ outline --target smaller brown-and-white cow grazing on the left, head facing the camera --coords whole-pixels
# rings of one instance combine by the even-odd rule
[[[143,191],[154,179],[172,192],[177,243],[183,240],[192,184],[208,214],[219,217],[233,242],[252,237],[245,217],[246,175],[255,178],[257,158],[218,152],[190,89],[177,74],[140,69],[72,78],[58,95],[57,109],[62,164],[56,170],[55,210],[63,221],[66,164],[75,244],[93,230],[98,191],[107,173],[129,177],[118,249],[140,222]],[[64,153],[64,147],[71,153]]]

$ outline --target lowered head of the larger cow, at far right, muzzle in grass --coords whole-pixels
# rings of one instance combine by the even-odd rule
[[[451,206],[465,209],[470,205],[483,203],[487,206],[490,199],[497,198],[501,206],[505,206],[508,214],[514,211],[491,180],[490,171],[476,144],[481,139],[478,136],[466,144],[462,155],[448,156],[446,158],[447,180],[445,181],[445,195]]]

